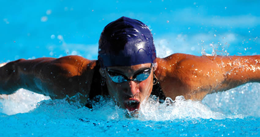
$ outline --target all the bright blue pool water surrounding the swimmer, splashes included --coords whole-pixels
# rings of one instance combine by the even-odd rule
[[[158,57],[259,54],[259,5],[242,0],[0,1],[0,63],[71,54],[96,59],[103,27],[121,16],[149,26]],[[247,83],[202,101],[178,97],[171,105],[150,98],[132,118],[109,98],[89,109],[20,89],[1,96],[0,136],[259,136],[259,86]]]

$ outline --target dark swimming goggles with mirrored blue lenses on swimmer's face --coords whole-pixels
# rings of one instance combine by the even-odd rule
[[[110,79],[115,82],[115,83],[122,83],[122,82],[126,82],[126,81],[144,81],[145,79],[147,79],[150,76],[151,73],[151,69],[152,69],[152,64],[150,66],[150,68],[147,68],[141,72],[138,72],[137,74],[135,74],[133,76],[132,79],[128,79],[127,76],[122,75],[119,72],[114,72],[114,71],[110,71],[109,69],[106,68],[107,74],[110,77]]]

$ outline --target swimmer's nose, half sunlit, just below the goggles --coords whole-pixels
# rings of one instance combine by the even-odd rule
[[[137,87],[137,83],[134,81],[126,82],[124,92],[130,97],[134,97],[137,93],[139,93],[139,88]]]

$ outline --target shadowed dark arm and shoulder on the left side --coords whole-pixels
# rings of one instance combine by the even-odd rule
[[[80,56],[19,59],[0,67],[0,94],[12,94],[19,88],[64,98],[76,93],[88,94],[96,61]]]

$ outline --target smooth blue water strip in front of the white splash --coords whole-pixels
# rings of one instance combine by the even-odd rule
[[[31,114],[32,115],[32,114]],[[16,124],[4,136],[258,136],[259,118],[183,119],[173,121],[96,120],[95,118],[41,118],[17,114],[1,121]],[[25,119],[26,118],[26,119]],[[241,126],[246,125],[246,126]]]

